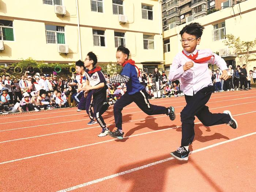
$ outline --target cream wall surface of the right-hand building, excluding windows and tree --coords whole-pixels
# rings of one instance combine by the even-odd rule
[[[241,8],[241,14],[240,14]],[[234,5],[233,9],[225,8],[223,10],[214,12],[210,15],[206,15],[202,18],[193,20],[193,22],[198,22],[205,27],[200,45],[197,46],[197,49],[211,49],[213,52],[219,52],[220,49],[225,49],[227,46],[224,45],[223,41],[225,39],[220,39],[218,41],[213,41],[212,31],[214,30],[214,25],[225,22],[225,31],[226,34],[233,34],[236,37],[240,37],[242,41],[253,41],[256,38],[256,25],[253,23],[253,18],[256,16],[256,4],[255,0],[247,0],[239,5]],[[163,32],[163,39],[170,39],[170,52],[164,53],[164,65],[169,66],[172,64],[172,61],[175,55],[178,52],[182,51],[182,46],[180,42],[180,30],[189,23],[184,25],[177,26],[173,29]],[[230,50],[230,54],[233,54],[233,50]],[[252,53],[256,53],[256,47],[252,50]],[[245,64],[245,59],[242,57],[223,57],[225,60],[235,59],[236,65]],[[251,70],[256,66],[256,57],[251,56],[248,63],[247,69]],[[215,67],[216,68],[216,67]]]

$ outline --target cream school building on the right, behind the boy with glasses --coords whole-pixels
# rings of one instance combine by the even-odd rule
[[[201,1],[200,1],[201,2]],[[200,3],[198,1],[198,3]],[[235,37],[240,37],[241,41],[254,41],[256,38],[256,25],[254,19],[256,17],[255,0],[246,0],[241,3],[233,4],[230,7],[225,7],[220,11],[205,15],[201,18],[194,19],[191,22],[198,22],[205,27],[200,45],[197,49],[211,49],[226,61],[227,65],[246,64],[245,57],[242,53],[234,53],[232,48],[228,48],[224,44],[225,35],[233,34]],[[180,42],[180,31],[191,22],[177,25],[172,29],[163,31],[163,46],[164,46],[164,69],[166,74],[169,74],[170,65],[172,65],[174,56],[182,51]],[[249,53],[256,53],[256,46]],[[256,56],[251,54],[248,60],[247,70],[252,70],[256,67]],[[217,66],[213,66],[217,68]]]

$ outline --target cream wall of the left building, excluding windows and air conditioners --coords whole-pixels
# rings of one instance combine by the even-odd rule
[[[112,1],[103,0],[103,13],[91,11],[90,0],[78,0],[82,59],[89,51],[98,61],[116,62],[114,31],[125,33],[125,44],[131,58],[142,68],[142,63],[163,63],[162,20],[158,0],[124,0],[124,15],[128,23],[119,23],[113,14]],[[153,6],[153,20],[142,19],[142,4]],[[66,15],[56,15],[54,5],[42,0],[0,1],[0,19],[13,20],[14,41],[4,41],[0,63],[12,63],[32,57],[46,63],[72,63],[80,59],[76,0],[63,0]],[[161,5],[160,5],[161,7]],[[57,51],[57,44],[47,44],[45,25],[65,27],[65,44],[69,53]],[[105,31],[105,47],[94,46],[93,29]],[[154,49],[143,48],[143,34],[154,35]]]

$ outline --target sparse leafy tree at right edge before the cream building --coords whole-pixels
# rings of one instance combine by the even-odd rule
[[[253,55],[250,51],[256,45],[256,38],[254,41],[241,41],[240,37],[228,34],[223,42],[229,48],[233,48],[234,53],[237,54],[238,58],[244,57],[247,66],[249,58]],[[244,52],[245,54],[243,54]]]

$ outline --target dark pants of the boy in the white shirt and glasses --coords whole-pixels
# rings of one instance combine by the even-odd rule
[[[195,137],[195,116],[204,126],[229,123],[230,116],[225,113],[211,113],[206,103],[212,94],[212,86],[204,87],[193,96],[185,95],[187,105],[180,113],[182,139],[181,146],[188,146]]]

